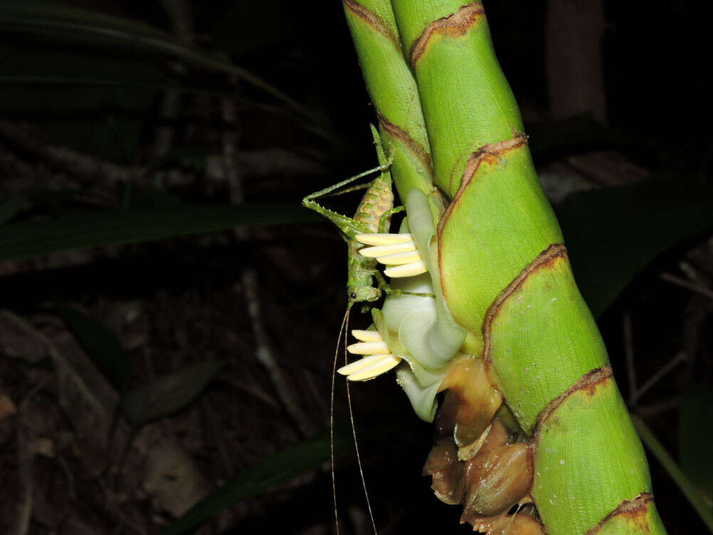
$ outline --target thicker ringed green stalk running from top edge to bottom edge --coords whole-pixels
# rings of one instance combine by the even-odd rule
[[[545,531],[665,533],[645,455],[535,175],[483,7],[392,0],[433,148],[453,196],[438,266],[453,318],[530,434]]]

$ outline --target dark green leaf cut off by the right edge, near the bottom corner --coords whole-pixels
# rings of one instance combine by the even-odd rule
[[[713,500],[713,457],[710,444],[713,430],[713,389],[694,384],[686,390],[679,407],[678,454],[681,468],[689,479]]]

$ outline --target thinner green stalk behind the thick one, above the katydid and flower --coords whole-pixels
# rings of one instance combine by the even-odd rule
[[[431,178],[431,148],[416,81],[404,60],[389,0],[342,0],[366,88],[379,118],[379,132],[394,163],[391,174],[401,199],[411,188],[429,197],[438,218],[443,196]],[[437,220],[437,219],[436,219]]]

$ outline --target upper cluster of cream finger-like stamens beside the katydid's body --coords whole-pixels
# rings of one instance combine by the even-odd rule
[[[359,254],[386,267],[384,275],[389,277],[413,277],[428,271],[411,234],[357,234],[356,241],[364,245],[374,245],[359,250]]]

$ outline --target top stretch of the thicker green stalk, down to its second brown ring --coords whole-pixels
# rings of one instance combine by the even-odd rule
[[[453,196],[473,151],[523,131],[520,111],[480,4],[462,9],[458,0],[392,4],[421,93],[436,185]]]

